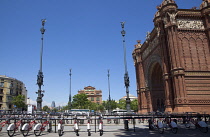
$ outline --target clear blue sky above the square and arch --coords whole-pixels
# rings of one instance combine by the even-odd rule
[[[125,96],[121,21],[125,21],[130,93],[136,94],[132,51],[154,27],[156,6],[163,0],[0,0],[0,75],[16,78],[35,102],[40,67],[41,19],[46,18],[43,105],[66,105],[72,69],[72,96],[86,86],[108,99]],[[178,8],[199,7],[202,0],[176,0]]]

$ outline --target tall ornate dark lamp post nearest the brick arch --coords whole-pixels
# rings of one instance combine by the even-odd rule
[[[130,107],[130,98],[129,98],[129,76],[128,76],[128,70],[127,70],[127,62],[126,62],[126,45],[125,45],[125,30],[124,30],[124,25],[125,22],[121,22],[121,27],[122,27],[122,37],[123,37],[123,49],[124,49],[124,65],[125,65],[125,75],[124,75],[124,82],[125,82],[125,87],[126,87],[126,109],[127,112],[131,112],[131,107]]]

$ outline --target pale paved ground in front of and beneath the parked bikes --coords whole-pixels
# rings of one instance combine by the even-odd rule
[[[208,133],[202,133],[198,129],[191,128],[186,129],[184,125],[178,125],[179,129],[177,134],[173,134],[170,129],[166,129],[163,134],[159,134],[157,130],[149,130],[146,124],[137,124],[135,127],[135,132],[132,124],[129,124],[129,130],[124,130],[124,125],[106,124],[104,125],[103,137],[210,137],[210,131]],[[86,126],[80,126],[79,136],[88,136]],[[99,137],[98,129],[95,132],[95,126],[91,126],[91,136]],[[0,132],[0,137],[8,137],[6,129],[4,128]],[[20,132],[15,133],[14,137],[23,137]],[[28,137],[35,137],[33,131],[29,132]],[[40,137],[59,137],[58,133],[55,133],[54,127],[51,133],[44,131]],[[65,126],[64,135],[62,137],[76,137],[73,132],[73,126]]]

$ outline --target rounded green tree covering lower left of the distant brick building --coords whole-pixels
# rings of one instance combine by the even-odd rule
[[[73,96],[72,108],[88,109],[90,105],[91,102],[88,100],[86,94],[82,93]]]

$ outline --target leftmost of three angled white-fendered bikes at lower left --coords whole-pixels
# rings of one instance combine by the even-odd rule
[[[20,128],[21,130],[21,126],[22,126],[23,122],[22,119],[20,119],[18,122],[12,123],[8,126],[7,128],[7,134],[8,136],[12,137],[14,136],[15,132]]]

